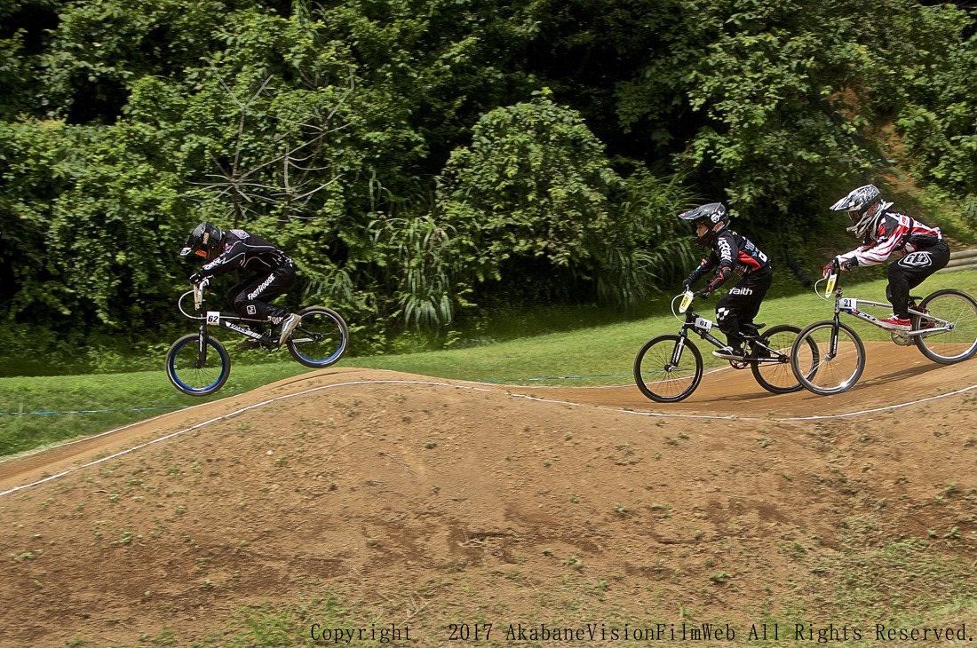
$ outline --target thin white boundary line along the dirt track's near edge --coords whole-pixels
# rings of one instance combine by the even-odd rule
[[[240,414],[243,414],[244,412],[248,412],[250,410],[258,409],[259,407],[264,407],[265,405],[270,405],[270,404],[275,403],[275,402],[277,402],[279,400],[286,400],[288,398],[294,398],[295,396],[302,396],[302,395],[305,395],[305,394],[308,394],[308,393],[314,393],[316,391],[321,391],[323,389],[333,389],[333,388],[336,388],[336,387],[355,386],[355,385],[426,385],[426,386],[438,386],[438,387],[451,387],[451,388],[454,388],[454,389],[471,389],[473,391],[487,391],[487,392],[490,392],[490,391],[495,390],[495,389],[486,388],[486,387],[477,387],[477,386],[470,386],[470,385],[452,385],[450,383],[434,383],[434,382],[428,382],[428,381],[351,381],[351,382],[348,382],[348,383],[336,383],[336,384],[333,384],[333,385],[320,385],[318,387],[313,387],[311,389],[305,389],[303,391],[296,391],[295,393],[290,393],[290,394],[284,394],[284,395],[281,395],[281,396],[276,396],[275,398],[270,398],[270,399],[265,400],[265,401],[262,401],[260,403],[255,403],[254,405],[248,405],[247,407],[242,407],[241,409],[235,410],[234,412],[232,412],[230,414],[225,414],[223,416],[215,417],[213,419],[210,419],[209,421],[204,421],[203,423],[198,423],[196,425],[191,425],[190,427],[186,427],[186,428],[181,429],[181,430],[178,430],[176,432],[171,432],[171,433],[166,434],[164,436],[160,436],[160,437],[155,438],[155,439],[153,439],[151,441],[148,441],[147,443],[142,443],[142,444],[140,444],[138,446],[134,446],[134,447],[129,448],[127,450],[122,450],[121,452],[117,452],[114,455],[109,455],[108,457],[103,457],[102,459],[97,459],[97,460],[95,460],[93,462],[89,462],[88,464],[84,464],[82,466],[74,466],[74,467],[68,468],[67,470],[64,470],[63,472],[59,472],[58,474],[54,474],[54,475],[50,475],[48,477],[45,477],[44,479],[40,479],[38,481],[31,482],[29,484],[23,484],[21,486],[17,486],[15,488],[10,489],[10,490],[3,491],[2,493],[0,493],[0,497],[3,497],[5,495],[11,495],[13,493],[17,493],[17,492],[22,491],[24,489],[31,488],[33,486],[38,486],[38,485],[43,484],[45,482],[52,481],[52,480],[58,479],[60,477],[64,477],[64,475],[67,475],[67,474],[70,474],[72,472],[75,472],[76,470],[81,470],[82,468],[87,468],[87,467],[91,467],[91,466],[97,466],[99,464],[102,464],[104,462],[107,462],[108,460],[116,459],[118,457],[122,457],[123,455],[128,455],[129,453],[136,452],[137,450],[142,450],[143,448],[147,448],[150,445],[159,443],[161,441],[166,441],[167,439],[172,439],[172,438],[177,437],[177,436],[180,436],[182,434],[186,434],[187,432],[191,432],[194,429],[199,429],[199,428],[201,428],[201,427],[203,427],[205,425],[211,425],[211,424],[214,424],[214,423],[219,423],[221,421],[226,421],[228,419],[232,419],[235,416],[238,416]],[[494,386],[494,385],[492,385],[492,386]],[[636,416],[645,416],[645,417],[658,417],[658,418],[663,418],[663,419],[709,419],[709,420],[719,420],[719,421],[766,421],[766,422],[775,422],[775,423],[776,422],[785,422],[786,423],[786,422],[794,422],[794,421],[823,421],[825,419],[841,419],[841,418],[846,418],[846,417],[861,416],[861,415],[864,415],[864,414],[874,414],[876,412],[885,412],[885,411],[890,411],[890,410],[896,410],[896,409],[900,409],[900,408],[903,408],[903,407],[910,407],[911,405],[918,405],[920,403],[925,403],[925,402],[928,402],[928,401],[931,401],[931,400],[937,400],[937,399],[940,399],[940,398],[947,398],[949,396],[956,396],[956,395],[959,395],[961,393],[965,393],[967,391],[970,391],[971,389],[977,389],[977,385],[970,385],[968,387],[964,387],[962,389],[957,389],[956,391],[951,391],[949,393],[940,394],[938,396],[929,396],[927,398],[920,398],[918,400],[914,400],[914,401],[911,401],[911,402],[908,402],[908,403],[898,403],[896,405],[888,405],[886,407],[877,407],[877,408],[874,408],[874,409],[871,409],[871,410],[860,410],[858,412],[849,412],[849,413],[846,413],[846,414],[829,414],[829,415],[825,415],[825,416],[816,416],[816,417],[792,417],[792,418],[786,418],[786,419],[740,417],[740,416],[736,416],[736,415],[730,415],[730,416],[709,416],[709,415],[699,415],[699,414],[662,414],[662,413],[659,413],[659,412],[635,412],[635,411],[632,411],[632,410],[624,410],[624,409],[619,409],[619,408],[604,407],[604,406],[600,406],[600,405],[592,406],[592,407],[597,407],[598,409],[602,409],[602,410],[610,410],[610,411],[613,411],[613,412],[619,412],[619,413],[622,413],[622,414],[633,414],[633,415],[636,415]],[[541,402],[541,403],[555,403],[555,404],[560,404],[560,405],[575,405],[575,406],[578,406],[578,407],[583,407],[584,406],[581,403],[573,403],[571,401],[563,401],[563,400],[550,400],[550,399],[546,399],[546,398],[537,398],[535,396],[530,396],[530,395],[527,395],[527,394],[510,393],[509,395],[512,396],[512,397],[514,397],[514,398],[526,398],[527,400]],[[234,396],[232,396],[232,397],[234,397]],[[214,401],[214,402],[219,402],[219,401]],[[212,403],[203,403],[201,405],[194,405],[193,407],[203,407],[205,405],[211,405],[211,404]],[[192,408],[187,408],[187,409],[192,409]],[[185,409],[185,410],[179,410],[179,411],[180,412],[186,412],[187,410]],[[149,419],[149,421],[154,421],[156,419],[161,419],[161,418],[163,418],[165,416],[170,416],[172,414],[176,414],[176,412],[170,412],[168,414],[164,414],[164,415],[161,415],[159,417],[154,417],[152,419]],[[143,422],[140,422],[140,423],[148,423],[148,422],[147,421],[143,421]],[[132,425],[139,425],[139,424],[132,424]],[[119,427],[117,429],[109,430],[107,432],[103,432],[101,434],[98,434],[98,435],[96,435],[96,437],[88,437],[88,438],[97,438],[98,436],[105,436],[106,434],[111,434],[112,432],[117,432],[117,431],[120,431],[122,429],[126,429],[127,427],[131,427],[132,425],[126,425],[125,427]],[[83,441],[83,440],[85,440],[85,439],[79,439],[78,441],[71,441],[69,443],[78,443],[78,442]],[[69,443],[65,443],[64,445],[69,445]]]

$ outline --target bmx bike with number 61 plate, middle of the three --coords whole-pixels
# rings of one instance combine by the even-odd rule
[[[676,296],[671,302],[672,315],[682,322],[678,334],[652,338],[638,351],[634,359],[634,382],[641,393],[658,403],[677,403],[692,395],[702,380],[702,354],[689,339],[695,333],[716,348],[723,344],[710,331],[715,323],[690,307],[692,292]],[[676,312],[675,303],[681,300]],[[685,313],[685,317],[681,317]],[[745,339],[743,360],[730,360],[734,369],[749,367],[753,378],[771,393],[790,393],[803,387],[790,370],[790,348],[800,327],[789,324],[774,326],[761,333],[765,324],[741,325]]]

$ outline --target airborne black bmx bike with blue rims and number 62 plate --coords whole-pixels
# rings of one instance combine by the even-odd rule
[[[205,279],[192,290],[184,293],[177,306],[185,316],[200,322],[196,333],[186,335],[173,343],[166,352],[166,376],[177,389],[191,396],[206,396],[220,389],[231,375],[231,356],[220,340],[210,336],[208,326],[218,326],[257,342],[268,352],[275,351],[278,337],[252,330],[268,325],[267,319],[243,317],[234,312],[207,310],[204,289]],[[193,309],[188,312],[184,300],[193,297]],[[302,319],[285,340],[288,352],[307,367],[321,369],[335,364],[346,353],[350,331],[346,322],[335,310],[325,306],[308,306],[298,311]]]

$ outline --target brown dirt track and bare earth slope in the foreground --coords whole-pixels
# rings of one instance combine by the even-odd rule
[[[837,396],[712,374],[669,406],[334,369],[0,464],[0,645],[954,621],[977,362],[869,357]]]

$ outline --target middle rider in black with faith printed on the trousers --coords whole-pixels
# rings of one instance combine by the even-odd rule
[[[743,277],[726,295],[716,303],[716,323],[726,335],[726,346],[712,351],[717,358],[743,360],[743,324],[752,324],[760,311],[760,304],[773,282],[773,270],[767,255],[763,254],[752,241],[730,229],[730,217],[722,203],[709,203],[679,214],[683,221],[696,225],[696,243],[711,248],[709,255],[701,261],[682,282],[682,287],[691,290],[702,276],[711,273],[705,286],[696,293],[705,299],[733,274]]]

